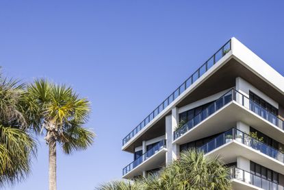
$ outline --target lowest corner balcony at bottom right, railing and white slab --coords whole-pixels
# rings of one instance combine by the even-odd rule
[[[230,176],[232,179],[232,185],[235,189],[266,189],[266,190],[283,190],[284,187],[267,180],[265,178],[261,178],[260,176],[256,176],[244,169],[240,169],[237,167],[232,167],[230,169]],[[245,183],[245,184],[244,184]],[[258,187],[258,188],[257,188]]]

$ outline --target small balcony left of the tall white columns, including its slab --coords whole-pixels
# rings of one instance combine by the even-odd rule
[[[123,178],[133,178],[142,171],[155,169],[166,161],[166,140],[159,141],[150,150],[122,169]]]

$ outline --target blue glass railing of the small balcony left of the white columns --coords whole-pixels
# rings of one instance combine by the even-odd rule
[[[146,161],[148,158],[159,152],[166,147],[166,140],[159,141],[156,145],[154,145],[150,150],[147,150],[144,154],[139,156],[135,161],[127,165],[122,169],[122,175],[125,176],[129,171]]]

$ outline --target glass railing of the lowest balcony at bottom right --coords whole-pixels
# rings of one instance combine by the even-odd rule
[[[283,190],[284,187],[272,182],[271,180],[267,180],[266,178],[261,178],[261,176],[257,176],[252,174],[244,169],[240,169],[237,167],[232,167],[230,169],[230,176],[232,179],[240,180],[242,182],[246,182],[250,185],[254,185],[261,189],[266,190]]]

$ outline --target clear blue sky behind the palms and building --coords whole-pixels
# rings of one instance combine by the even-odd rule
[[[66,83],[92,102],[94,145],[58,154],[57,189],[121,178],[133,159],[123,137],[232,36],[284,74],[284,1],[237,2],[0,1],[2,72]],[[7,189],[47,190],[47,156],[42,143],[29,178]]]

